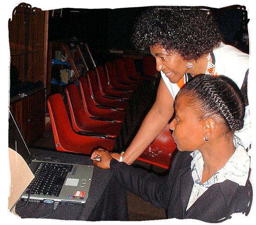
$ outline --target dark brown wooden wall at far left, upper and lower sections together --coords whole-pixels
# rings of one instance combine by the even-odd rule
[[[10,89],[15,90],[10,109],[29,144],[45,129],[48,11],[20,3],[8,28],[11,68],[15,68],[15,74],[10,72]]]

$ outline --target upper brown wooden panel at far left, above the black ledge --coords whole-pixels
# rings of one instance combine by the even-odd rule
[[[11,64],[19,80],[41,81],[46,87],[48,11],[21,3],[13,10],[8,28]]]

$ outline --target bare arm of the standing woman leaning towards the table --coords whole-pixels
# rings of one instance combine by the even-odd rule
[[[170,118],[173,116],[173,113],[174,99],[161,78],[155,103],[141,123],[141,127],[133,141],[126,149],[122,161],[127,164],[133,163],[145,148],[147,148],[148,145],[161,133]],[[120,159],[119,154],[113,153],[112,156],[116,160]]]

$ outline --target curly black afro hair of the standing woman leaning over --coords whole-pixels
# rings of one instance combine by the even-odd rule
[[[196,60],[219,47],[222,35],[211,14],[199,7],[151,6],[137,19],[132,39],[136,47],[161,45]]]

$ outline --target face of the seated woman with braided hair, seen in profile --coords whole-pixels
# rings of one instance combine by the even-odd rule
[[[179,151],[199,150],[205,142],[203,125],[204,122],[197,116],[195,105],[189,106],[190,97],[180,95],[175,101],[176,116],[170,123],[173,130],[172,136]]]

